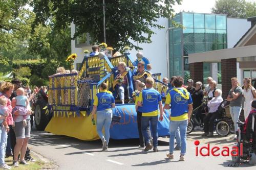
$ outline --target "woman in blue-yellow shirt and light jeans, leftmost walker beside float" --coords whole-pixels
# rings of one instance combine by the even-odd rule
[[[100,85],[100,92],[96,94],[93,102],[92,119],[97,110],[97,133],[102,140],[102,151],[108,151],[108,144],[110,140],[110,125],[112,121],[112,108],[115,108],[115,99],[112,92],[106,90],[108,85],[102,83]],[[105,134],[102,129],[104,127]]]

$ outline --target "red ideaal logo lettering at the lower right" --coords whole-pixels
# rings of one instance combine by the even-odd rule
[[[196,140],[194,142],[194,144],[196,146],[198,146],[200,144],[199,140]],[[204,152],[203,152],[204,151]],[[206,152],[205,152],[206,151]],[[229,147],[210,147],[210,143],[208,143],[206,146],[203,147],[196,147],[196,156],[243,156],[243,143],[240,143],[240,148],[233,146],[231,148],[231,150],[229,149]]]

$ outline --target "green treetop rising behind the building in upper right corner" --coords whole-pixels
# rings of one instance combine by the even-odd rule
[[[256,15],[256,3],[245,0],[218,0],[211,12],[226,14],[227,17],[247,18]]]

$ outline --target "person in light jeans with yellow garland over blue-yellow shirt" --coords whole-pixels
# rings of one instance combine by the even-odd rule
[[[169,159],[174,159],[174,139],[179,128],[181,137],[180,161],[184,161],[184,155],[186,153],[187,125],[193,110],[191,95],[185,88],[182,88],[183,82],[184,80],[181,77],[177,77],[174,80],[175,88],[167,94],[164,105],[164,109],[172,108],[169,125],[169,153],[166,156]]]

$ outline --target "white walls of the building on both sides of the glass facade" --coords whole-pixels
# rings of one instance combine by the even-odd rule
[[[166,30],[168,28],[168,19],[160,18],[158,20],[158,24],[165,27],[165,29],[153,29],[156,33],[152,35],[152,43],[139,44],[140,47],[143,48],[141,52],[144,54],[150,62],[152,63],[152,72],[153,73],[161,73],[162,77],[167,77],[167,62],[166,62],[166,51],[169,51],[169,45],[166,45]],[[232,48],[239,39],[246,33],[246,31],[250,28],[250,22],[247,19],[239,19],[239,18],[227,18],[227,48]],[[75,25],[71,24],[71,35],[75,34]],[[80,41],[80,42],[79,42]],[[167,40],[168,41],[168,40]],[[137,42],[133,42],[137,45]],[[111,45],[111,44],[109,44]],[[167,47],[166,47],[167,46]],[[72,53],[76,53],[78,55],[75,61],[75,68],[78,69],[79,64],[83,59],[83,50],[88,49],[92,50],[92,46],[89,43],[89,36],[84,35],[82,38],[76,38],[71,41],[71,50]],[[133,49],[131,51],[131,56],[136,59],[137,51]],[[217,72],[218,72],[218,64],[211,63],[210,75],[217,80]],[[239,69],[239,63],[237,64],[238,71],[237,75],[240,80],[243,79],[243,70]]]

